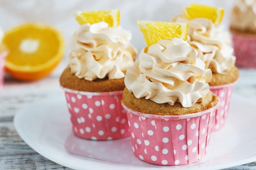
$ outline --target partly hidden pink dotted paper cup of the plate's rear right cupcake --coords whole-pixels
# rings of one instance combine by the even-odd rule
[[[219,97],[220,106],[216,110],[213,119],[213,131],[221,129],[226,122],[229,114],[230,100],[234,89],[234,84],[226,84],[221,86],[210,86],[210,90]]]

